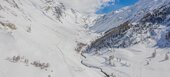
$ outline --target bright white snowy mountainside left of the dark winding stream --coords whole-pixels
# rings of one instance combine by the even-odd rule
[[[0,77],[102,77],[75,51],[96,36],[86,20],[56,0],[1,0]]]

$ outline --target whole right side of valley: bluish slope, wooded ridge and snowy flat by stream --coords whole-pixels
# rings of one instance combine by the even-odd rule
[[[169,0],[139,0],[102,16],[90,29],[103,35],[87,46],[82,63],[106,77],[169,77],[169,16]]]

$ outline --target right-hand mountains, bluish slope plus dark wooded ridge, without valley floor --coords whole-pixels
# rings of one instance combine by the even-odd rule
[[[115,12],[99,18],[92,27],[96,28],[96,32],[103,30],[104,34],[92,42],[92,48],[96,47],[97,50],[103,47],[125,48],[143,41],[152,42],[153,46],[169,47],[170,2],[168,0],[161,1],[141,0],[126,10],[123,8],[122,12],[116,14],[121,16],[121,20],[117,20]],[[145,7],[143,7],[144,4]],[[101,29],[97,29],[98,27]]]

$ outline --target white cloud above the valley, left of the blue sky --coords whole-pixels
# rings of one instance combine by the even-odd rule
[[[74,8],[82,13],[95,13],[104,3],[114,0],[59,0],[67,7]]]

